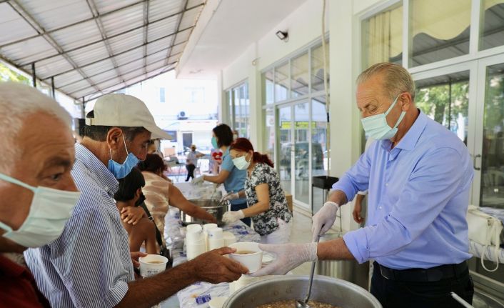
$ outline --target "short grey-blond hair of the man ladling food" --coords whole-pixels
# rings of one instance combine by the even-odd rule
[[[403,92],[408,92],[414,101],[415,82],[408,70],[403,66],[388,62],[374,64],[357,77],[357,84],[367,81],[375,74],[383,74],[383,91],[385,95],[388,95],[390,100],[395,99]]]

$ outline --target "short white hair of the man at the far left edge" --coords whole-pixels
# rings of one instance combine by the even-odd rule
[[[0,110],[0,136],[4,139],[0,145],[0,172],[4,174],[10,174],[19,155],[17,136],[25,124],[30,125],[25,123],[26,117],[45,112],[69,124],[69,129],[71,125],[70,114],[54,99],[31,86],[15,82],[0,82]],[[0,182],[0,186],[2,184]]]

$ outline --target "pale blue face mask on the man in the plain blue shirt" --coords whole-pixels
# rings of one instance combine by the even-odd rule
[[[385,140],[385,139],[391,139],[395,134],[397,134],[397,126],[400,124],[400,121],[403,120],[404,115],[406,114],[406,111],[402,111],[400,113],[399,119],[395,122],[394,127],[388,126],[387,123],[387,114],[392,110],[393,106],[395,106],[395,103],[397,103],[397,99],[399,96],[397,96],[394,100],[394,102],[388,107],[387,111],[383,114],[376,114],[374,116],[368,116],[366,118],[361,119],[362,126],[364,128],[364,131],[366,131],[366,135],[371,136],[373,139],[377,140]]]

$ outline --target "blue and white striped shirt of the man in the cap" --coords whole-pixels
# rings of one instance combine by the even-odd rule
[[[24,253],[51,307],[114,307],[134,279],[128,234],[114,202],[118,182],[81,144],[72,177],[82,192],[63,234]]]

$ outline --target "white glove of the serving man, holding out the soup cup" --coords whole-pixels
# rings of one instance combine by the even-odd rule
[[[291,269],[295,269],[304,262],[316,261],[317,243],[305,244],[259,244],[259,249],[265,252],[273,252],[276,259],[257,272],[253,277],[265,275],[285,275]]]

